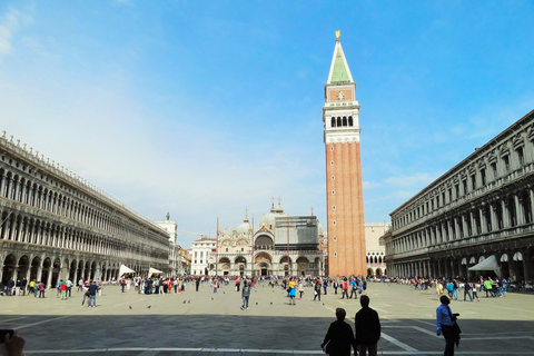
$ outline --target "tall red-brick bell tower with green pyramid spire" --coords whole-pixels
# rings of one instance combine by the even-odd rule
[[[367,276],[364,194],[359,151],[359,105],[339,31],[325,85],[328,274]]]

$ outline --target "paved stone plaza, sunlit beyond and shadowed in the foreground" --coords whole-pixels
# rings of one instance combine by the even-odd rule
[[[18,329],[27,339],[27,355],[317,355],[335,308],[347,310],[353,328],[359,309],[359,300],[342,300],[332,288],[314,303],[308,287],[303,300],[290,306],[280,287],[259,285],[249,309],[240,310],[233,285],[217,294],[208,285],[198,293],[187,287],[178,295],[146,296],[106,286],[96,308],[82,308],[78,291],[63,301],[55,290],[47,290],[46,299],[1,297],[0,328]],[[372,283],[368,295],[383,326],[378,354],[443,354],[444,340],[435,334],[434,289],[427,294]],[[532,355],[533,306],[534,293],[505,298],[482,293],[479,303],[453,301],[463,330],[456,354]]]

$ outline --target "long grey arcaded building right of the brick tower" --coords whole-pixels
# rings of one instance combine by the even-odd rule
[[[390,276],[534,276],[534,110],[395,209]]]

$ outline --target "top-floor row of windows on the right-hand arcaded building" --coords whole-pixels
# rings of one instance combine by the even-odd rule
[[[534,142],[527,141],[527,145],[534,150]],[[532,155],[528,155],[532,156]],[[527,157],[527,161],[532,162],[534,157]],[[437,191],[427,199],[421,199],[414,204],[411,208],[407,208],[405,212],[398,214],[393,219],[393,226],[395,229],[402,228],[415,221],[425,215],[431,214],[457,199],[465,197],[466,195],[475,191],[478,188],[485,187],[487,184],[496,181],[498,178],[508,175],[512,170],[521,169],[525,162],[525,147],[516,147],[512,154],[506,154],[492,158],[486,158],[487,165],[481,161],[475,169],[471,167],[469,174],[464,175],[466,170],[456,174],[449,178],[448,184],[443,184]],[[332,177],[334,180],[334,176]],[[448,188],[443,187],[447,185]]]

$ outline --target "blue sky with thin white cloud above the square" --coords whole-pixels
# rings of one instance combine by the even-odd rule
[[[215,237],[271,196],[326,226],[335,30],[365,219],[534,108],[532,1],[1,1],[0,129],[150,219]],[[196,236],[181,235],[189,247]]]

